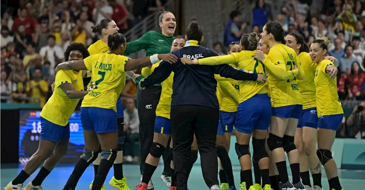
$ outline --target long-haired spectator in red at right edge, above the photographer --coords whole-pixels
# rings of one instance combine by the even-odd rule
[[[358,99],[360,97],[360,89],[362,82],[365,81],[365,74],[360,69],[360,64],[354,61],[351,65],[351,74],[347,77],[349,83],[348,94],[349,98]]]

